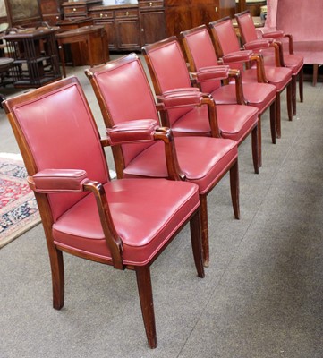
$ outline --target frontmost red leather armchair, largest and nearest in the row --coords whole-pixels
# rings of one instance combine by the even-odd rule
[[[110,181],[103,150],[109,140],[99,138],[74,77],[8,99],[4,109],[38,202],[54,308],[64,305],[63,252],[131,269],[137,277],[149,346],[156,347],[149,268],[188,222],[198,276],[204,277],[198,186],[165,179]],[[155,125],[149,131],[152,135]]]

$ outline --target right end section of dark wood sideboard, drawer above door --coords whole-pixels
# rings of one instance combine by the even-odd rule
[[[141,46],[166,38],[164,2],[160,0],[139,1]]]

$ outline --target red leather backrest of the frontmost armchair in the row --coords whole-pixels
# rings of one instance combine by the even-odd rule
[[[89,179],[108,181],[106,158],[81,86],[53,90],[13,107],[38,171],[83,169]],[[85,193],[48,195],[54,220]]]

